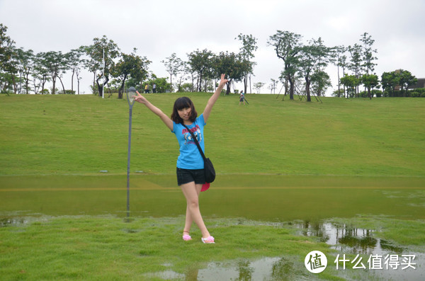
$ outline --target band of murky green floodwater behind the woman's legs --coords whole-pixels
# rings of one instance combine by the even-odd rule
[[[20,214],[118,214],[126,211],[125,176],[2,176],[0,211]],[[131,176],[132,216],[181,215],[186,200],[174,175]],[[219,176],[201,193],[207,217],[264,221],[382,214],[425,219],[425,179],[355,176]]]

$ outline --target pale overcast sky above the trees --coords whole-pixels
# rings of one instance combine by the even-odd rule
[[[136,47],[160,77],[168,77],[161,61],[173,52],[183,60],[197,49],[239,52],[241,42],[234,38],[251,34],[258,39],[252,80],[266,84],[283,69],[267,46],[276,30],[302,35],[305,43],[320,37],[329,47],[361,44],[368,33],[378,50],[378,76],[405,69],[425,78],[424,14],[424,0],[0,0],[0,23],[16,47],[69,52],[106,35],[123,52]],[[327,71],[335,90],[337,69]],[[66,88],[70,79],[64,78]],[[81,91],[89,93],[91,79],[84,75]]]

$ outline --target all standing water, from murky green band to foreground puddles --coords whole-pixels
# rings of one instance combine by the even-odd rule
[[[127,216],[125,176],[1,176],[0,180],[1,228],[30,224],[32,219],[46,216],[113,215],[124,220]],[[295,236],[326,243],[333,255],[328,261],[332,265],[338,253],[416,258],[415,270],[341,272],[330,268],[330,276],[358,280],[423,280],[425,276],[425,179],[421,177],[222,175],[210,190],[201,193],[200,207],[205,223],[212,224],[212,231],[218,225],[217,241],[220,231],[234,226],[261,229],[263,225],[291,229]],[[186,200],[174,175],[130,177],[130,220],[176,218],[183,222],[185,209]],[[224,226],[220,228],[220,224]],[[385,230],[397,229],[394,224],[407,233],[387,239],[392,233],[386,234]],[[128,228],[126,232],[143,235],[140,229]],[[393,232],[397,233],[394,229]],[[419,238],[413,243],[404,241],[403,235]],[[166,261],[162,269],[142,276],[147,280],[317,277],[289,254],[269,254],[252,258],[242,252],[229,255],[227,260],[217,258],[184,270],[176,270],[175,263]]]

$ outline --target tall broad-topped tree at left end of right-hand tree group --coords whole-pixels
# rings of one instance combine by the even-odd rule
[[[298,55],[300,52],[301,35],[289,31],[277,30],[276,34],[268,38],[267,44],[273,46],[276,55],[282,59],[285,69],[282,76],[289,81],[289,96],[294,99],[295,73],[297,72]]]

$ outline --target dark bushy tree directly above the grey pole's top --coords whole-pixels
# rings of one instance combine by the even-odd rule
[[[147,66],[151,63],[146,57],[136,55],[137,49],[134,48],[130,55],[122,53],[120,60],[111,69],[111,74],[118,79],[120,87],[118,88],[118,98],[123,98],[125,80],[128,77],[136,81],[145,80],[148,74]]]

